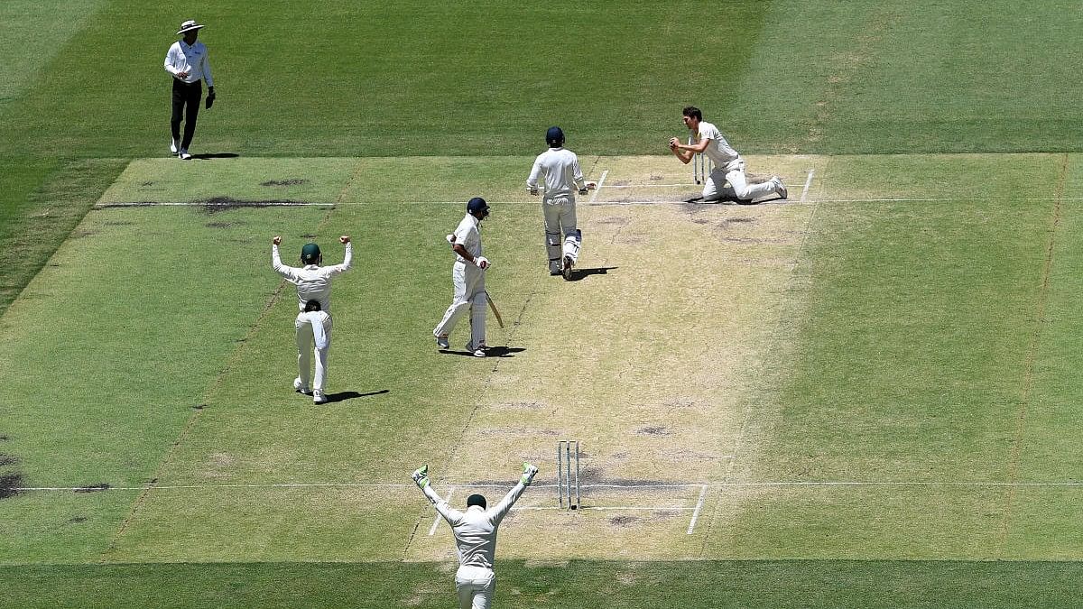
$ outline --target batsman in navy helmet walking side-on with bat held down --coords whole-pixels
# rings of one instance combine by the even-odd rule
[[[467,203],[467,215],[455,232],[447,235],[456,255],[455,264],[452,265],[455,295],[444,319],[432,331],[432,335],[436,337],[436,346],[447,349],[448,336],[455,329],[455,324],[464,313],[470,311],[470,342],[467,342],[467,351],[472,351],[478,358],[485,357],[485,269],[490,264],[488,259],[481,255],[481,221],[487,217],[488,204],[475,196]]]

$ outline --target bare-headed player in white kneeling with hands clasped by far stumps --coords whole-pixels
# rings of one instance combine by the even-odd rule
[[[717,127],[703,120],[700,108],[688,106],[682,113],[684,126],[691,131],[688,144],[682,144],[680,140],[673,138],[669,140],[669,150],[684,165],[701,153],[707,155],[715,164],[715,168],[704,180],[703,200],[719,200],[729,194],[723,190],[727,181],[733,187],[733,196],[741,200],[752,200],[771,193],[778,193],[782,198],[786,198],[786,186],[778,176],[772,176],[770,180],[758,184],[748,182],[744,171],[744,159],[730,146]]]

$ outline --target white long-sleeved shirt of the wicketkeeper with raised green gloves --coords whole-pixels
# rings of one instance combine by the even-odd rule
[[[496,558],[496,530],[500,520],[508,515],[516,500],[523,494],[526,487],[520,482],[508,494],[490,509],[472,505],[466,511],[459,511],[442,500],[432,487],[425,488],[425,496],[436,507],[436,511],[447,520],[455,534],[455,548],[459,555],[460,567],[481,567],[493,569]]]

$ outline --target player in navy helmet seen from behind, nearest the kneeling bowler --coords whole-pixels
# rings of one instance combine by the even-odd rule
[[[545,181],[542,215],[545,218],[545,246],[549,255],[549,274],[563,273],[565,280],[571,280],[572,267],[578,261],[579,246],[583,245],[583,232],[575,225],[575,192],[585,195],[587,190],[596,187],[596,184],[584,181],[578,157],[563,147],[564,132],[560,127],[550,127],[545,134],[545,141],[549,150],[534,159],[531,176],[526,179],[526,190],[532,195],[537,195],[538,178]],[[562,233],[563,256],[560,247]]]

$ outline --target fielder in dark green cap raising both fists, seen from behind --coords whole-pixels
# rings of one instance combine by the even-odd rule
[[[271,239],[271,267],[286,281],[297,286],[300,313],[293,324],[297,331],[297,378],[293,379],[293,389],[300,393],[309,393],[309,373],[312,367],[312,355],[315,353],[316,374],[312,385],[312,402],[315,404],[327,401],[324,385],[327,378],[327,352],[331,342],[331,277],[350,270],[350,262],[353,260],[353,244],[350,243],[350,236],[342,235],[339,241],[345,245],[345,256],[341,264],[321,267],[324,256],[319,252],[319,246],[308,243],[301,248],[301,263],[304,265],[299,269],[282,263],[282,258],[278,256],[282,237],[276,236]],[[316,324],[319,327],[316,327]]]

